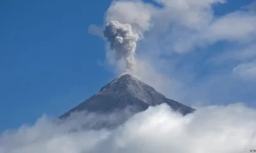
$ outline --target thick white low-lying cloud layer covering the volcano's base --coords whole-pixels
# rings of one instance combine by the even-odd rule
[[[93,122],[102,119],[76,115],[56,124],[42,117],[34,126],[4,133],[0,153],[242,153],[256,146],[256,110],[241,104],[198,108],[185,117],[160,105],[134,115],[118,129],[82,130],[81,124],[92,116]]]

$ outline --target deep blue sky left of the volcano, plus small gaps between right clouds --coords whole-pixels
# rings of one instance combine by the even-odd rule
[[[214,6],[215,15],[252,2]],[[99,64],[105,59],[104,41],[88,33],[91,24],[104,24],[110,4],[109,0],[0,2],[0,122],[4,123],[0,132],[31,124],[43,113],[58,116],[115,78]],[[213,44],[204,50],[218,47]],[[204,70],[198,80],[213,71],[197,69]],[[247,96],[239,101],[246,97],[252,103],[254,93],[244,93]]]

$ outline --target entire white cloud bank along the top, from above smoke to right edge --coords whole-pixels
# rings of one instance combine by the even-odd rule
[[[147,38],[154,37],[161,52],[184,53],[196,47],[205,47],[217,41],[252,41],[256,36],[256,15],[253,3],[221,17],[214,17],[212,6],[225,3],[218,0],[156,0],[161,7],[143,1],[114,1],[106,12],[106,22],[118,20],[133,25],[136,31],[147,31]],[[141,32],[142,31],[142,32]],[[184,45],[186,42],[186,45]]]

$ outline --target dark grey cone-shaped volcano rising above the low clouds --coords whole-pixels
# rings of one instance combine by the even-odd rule
[[[119,119],[120,122],[118,123],[111,123],[111,126],[116,126],[131,117],[134,113],[147,110],[149,106],[157,106],[163,103],[182,115],[195,111],[195,109],[189,106],[166,98],[153,87],[150,87],[150,85],[138,80],[138,78],[125,74],[120,75],[115,80],[102,87],[100,91],[91,98],[61,115],[60,119],[69,117],[73,112],[86,111],[100,114],[119,112],[118,116],[123,116],[123,118]],[[129,113],[128,116],[127,114],[120,115],[120,112],[125,112],[124,110],[127,110],[127,108],[129,108],[129,112],[131,113]],[[100,127],[101,126],[109,126],[108,121],[105,120],[104,123],[100,124]],[[99,128],[99,125],[97,127]]]

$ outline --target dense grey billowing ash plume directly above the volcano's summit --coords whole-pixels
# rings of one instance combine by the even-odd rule
[[[104,36],[108,39],[111,50],[116,51],[116,61],[124,59],[127,69],[134,68],[136,64],[134,58],[136,41],[140,37],[139,34],[132,31],[132,26],[111,21],[106,25]]]

